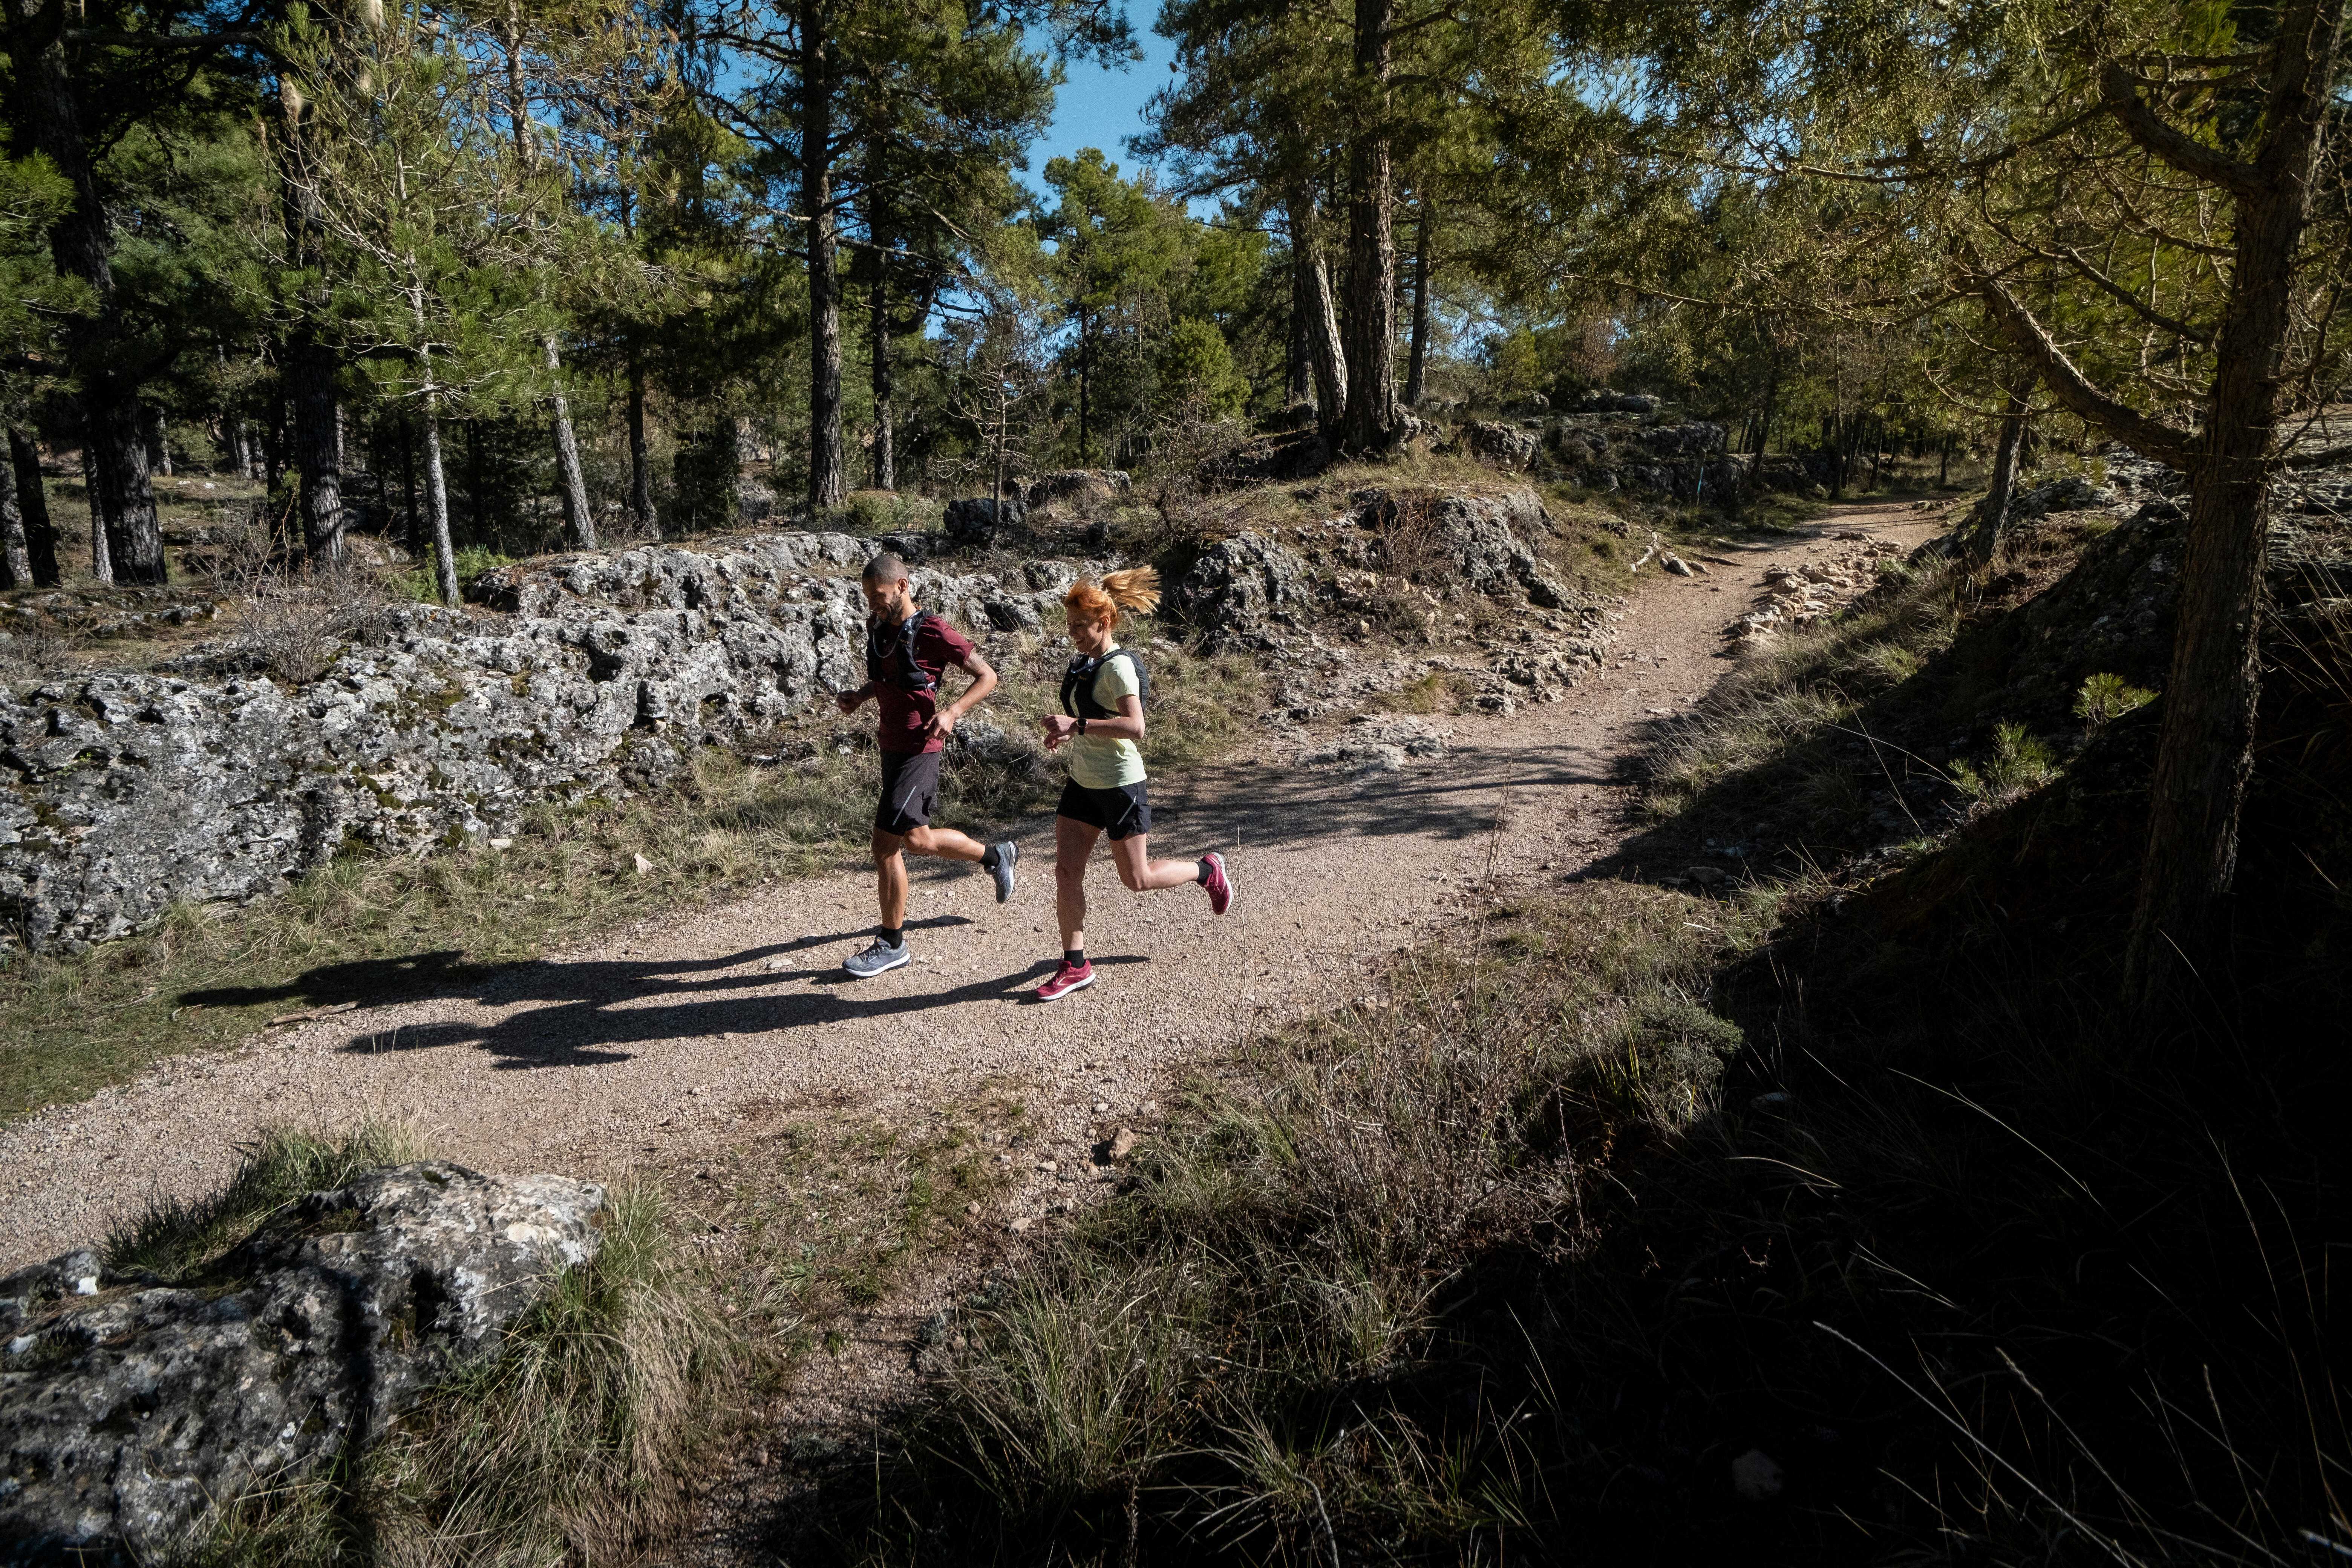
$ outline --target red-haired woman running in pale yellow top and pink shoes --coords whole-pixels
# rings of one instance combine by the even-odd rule
[[[1216,851],[1200,860],[1152,860],[1145,835],[1152,806],[1143,790],[1143,703],[1150,677],[1134,649],[1117,642],[1120,611],[1160,604],[1160,574],[1150,567],[1108,571],[1101,583],[1077,581],[1063,597],[1070,646],[1077,656],[1061,677],[1061,708],[1044,717],[1047,750],[1070,748],[1070,783],[1054,820],[1054,912],[1061,914],[1061,969],[1037,987],[1042,1001],[1094,985],[1087,961],[1087,856],[1110,835],[1120,882],[1136,893],[1185,886],[1209,889],[1209,912],[1232,907],[1232,879]]]

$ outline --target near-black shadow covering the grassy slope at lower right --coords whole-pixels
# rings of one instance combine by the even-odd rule
[[[2157,538],[2171,520],[2147,522]],[[1964,722],[2058,726],[2096,670],[2161,679],[2131,656],[2161,649],[2161,621],[2105,646],[2086,635],[2114,604],[2098,583],[2136,571],[2129,543],[2056,590],[2063,559],[1987,583],[1924,670],[1858,693],[1870,738],[1828,741],[1806,766],[1875,769],[1872,738],[1924,750]],[[1717,966],[1705,1018],[1736,1023],[1745,1048],[1689,1128],[1625,1117],[1606,1065],[1566,1091],[1531,1077],[1522,1100],[1559,1098],[1519,1159],[1571,1157],[1576,1199],[1432,1258],[1449,1284],[1411,1361],[1247,1406],[1218,1403],[1230,1380],[1214,1366],[1190,1368],[1192,1441],[1134,1488],[1033,1507],[993,1488],[985,1460],[927,1462],[938,1418],[917,1408],[880,1446],[811,1462],[774,1540],[793,1561],[946,1563],[2338,1561],[2352,614],[2333,578],[2310,581],[2324,592],[2281,592],[2265,642],[2234,961],[2161,1037],[2112,1006],[2157,703],[2077,729],[2056,783],[1940,849],[1849,860],[1766,947]],[[1757,802],[1792,776],[1776,769],[1788,757],[1724,778],[1604,875],[1656,877],[1708,837],[1752,837]],[[1835,820],[1783,811],[1750,863],[1867,851],[1898,832],[1889,816],[1893,799]],[[1496,950],[1519,954],[1541,1013],[1543,943]],[[1437,1039],[1512,1027],[1423,1023]],[[1686,1034],[1696,1060],[1708,1030]],[[1677,1041],[1635,1044],[1675,1060]],[[1197,1192],[1143,1185],[1131,1201],[1141,1225],[1209,1229],[1223,1213],[1188,1208]],[[1254,1222],[1305,1258],[1334,1215],[1298,1204]],[[1225,1333],[1221,1354],[1263,1354],[1247,1309]],[[1308,1455],[1282,1502],[1242,1443],[1197,1441],[1247,1422]],[[1404,1434],[1510,1505],[1404,1528],[1322,1509],[1319,1488],[1378,1469]],[[1743,1462],[1759,1474],[1748,1455],[1769,1460],[1769,1497],[1740,1495]]]

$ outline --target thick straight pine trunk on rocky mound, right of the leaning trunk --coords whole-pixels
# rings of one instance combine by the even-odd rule
[[[1362,103],[1348,146],[1348,421],[1341,447],[1388,451],[1397,440],[1397,235],[1388,165],[1388,26],[1395,0],[1355,0]]]

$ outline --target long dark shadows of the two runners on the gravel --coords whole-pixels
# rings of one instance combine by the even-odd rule
[[[971,924],[960,914],[943,914],[910,926]],[[858,933],[849,933],[856,938]],[[844,938],[826,938],[844,940]],[[802,940],[797,947],[809,947]],[[786,947],[757,947],[729,959],[694,964],[696,971],[717,966],[741,966],[764,957],[776,957]],[[1105,954],[1096,964],[1145,964],[1134,954]],[[579,971],[595,971],[581,976]],[[473,1046],[494,1058],[501,1070],[524,1067],[595,1067],[623,1063],[644,1046],[675,1044],[680,1039],[713,1034],[764,1034],[814,1030],[818,1025],[856,1023],[863,1018],[901,1018],[929,1013],[960,1004],[1035,1004],[1035,985],[1051,973],[1051,959],[1037,959],[1009,976],[967,980],[946,990],[927,992],[861,992],[856,987],[887,985],[887,980],[849,980],[835,966],[750,973],[701,976],[675,980],[680,964],[536,964],[522,990],[492,987],[485,1001],[546,1001],[508,1018],[489,1023],[440,1020],[400,1030],[355,1034],[341,1051],[348,1056],[386,1056],[405,1051],[437,1051],[445,1046]],[[616,976],[612,971],[626,971]],[[903,980],[901,980],[903,983]],[[795,985],[788,994],[774,994],[776,985]],[[767,994],[741,994],[746,987],[762,987]],[[659,997],[644,1006],[647,994]],[[623,1006],[616,1006],[623,1004]],[[628,1006],[637,1004],[637,1006]],[[814,1037],[811,1037],[814,1048]]]

